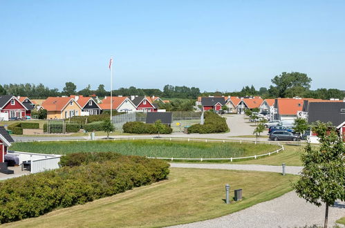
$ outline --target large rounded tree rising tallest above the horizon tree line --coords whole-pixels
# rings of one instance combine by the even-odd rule
[[[273,97],[286,97],[287,94],[301,96],[308,91],[311,81],[312,79],[305,73],[283,72],[271,80],[275,86],[270,86],[268,92]]]

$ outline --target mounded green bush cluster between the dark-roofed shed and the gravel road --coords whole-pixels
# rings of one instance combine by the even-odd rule
[[[188,133],[200,134],[221,133],[226,131],[229,131],[226,119],[211,111],[205,112],[204,124],[194,124],[188,128]]]

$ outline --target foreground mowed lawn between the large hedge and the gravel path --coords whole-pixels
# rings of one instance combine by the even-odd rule
[[[207,220],[272,200],[291,191],[295,175],[171,168],[169,180],[59,209],[4,227],[164,227]],[[243,200],[226,205],[225,184],[243,189]]]

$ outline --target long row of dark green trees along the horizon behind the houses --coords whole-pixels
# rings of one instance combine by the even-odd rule
[[[196,99],[198,96],[254,96],[259,95],[263,98],[276,98],[276,97],[310,97],[310,98],[321,98],[330,99],[338,98],[343,99],[345,92],[340,91],[336,88],[318,88],[315,91],[310,90],[310,84],[312,79],[305,73],[283,72],[280,75],[276,75],[271,79],[272,85],[269,88],[261,87],[257,89],[252,86],[244,86],[239,92],[222,93],[222,92],[204,92],[201,93],[199,88],[187,87],[187,86],[171,86],[165,85],[163,91],[158,88],[136,88],[130,86],[129,88],[119,88],[113,90],[113,95],[138,95],[138,96],[159,96],[167,98],[183,98],[183,99]],[[88,85],[80,91],[77,91],[77,86],[73,82],[66,82],[61,92],[57,88],[48,88],[44,84],[5,84],[0,85],[0,95],[12,94],[16,96],[28,96],[31,98],[46,98],[49,96],[59,95],[97,95],[98,97],[104,97],[110,95],[110,91],[106,91],[104,84],[100,84],[96,90],[92,90],[91,86]]]

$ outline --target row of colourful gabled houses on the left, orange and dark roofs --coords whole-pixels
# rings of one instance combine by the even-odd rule
[[[84,97],[71,95],[70,97],[48,97],[44,100],[29,99],[28,97],[15,97],[3,95],[0,97],[0,118],[11,120],[31,117],[32,110],[43,108],[47,111],[47,119],[66,119],[79,115],[99,115],[102,111],[111,108],[118,112],[157,112],[159,103],[169,102],[160,97]]]

